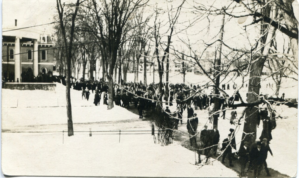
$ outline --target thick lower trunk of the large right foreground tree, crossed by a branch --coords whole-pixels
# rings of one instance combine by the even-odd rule
[[[251,65],[250,67],[250,78],[248,84],[248,93],[247,93],[247,102],[252,103],[258,100],[256,95],[260,93],[260,78],[262,76],[262,71],[264,67],[265,59],[260,57],[260,59]],[[242,143],[244,141],[249,142],[250,144],[253,143],[257,137],[257,119],[258,119],[258,108],[251,107],[247,108],[245,112],[245,123],[242,135]],[[245,137],[245,133],[248,133]],[[249,134],[253,133],[253,134]],[[242,145],[241,145],[242,146]]]

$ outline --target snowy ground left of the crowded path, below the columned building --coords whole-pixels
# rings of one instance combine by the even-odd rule
[[[2,171],[7,175],[53,176],[124,176],[124,177],[237,177],[237,173],[220,162],[199,169],[194,164],[194,152],[180,145],[160,146],[150,134],[97,135],[75,132],[67,137],[58,131],[67,130],[65,107],[54,106],[53,100],[63,97],[64,88],[58,84],[54,91],[2,90]],[[63,93],[63,94],[62,94]],[[80,99],[80,91],[71,90],[75,131],[149,130],[147,121],[121,108],[106,110]],[[19,98],[18,107],[9,101]],[[63,106],[63,102],[61,102]],[[80,107],[80,105],[82,105]],[[12,105],[11,105],[12,106]],[[82,123],[86,124],[82,124]],[[29,127],[28,127],[29,126]],[[105,132],[106,133],[106,132]],[[125,132],[132,133],[132,132]],[[135,132],[136,133],[136,132]],[[149,133],[149,132],[138,132]],[[213,172],[210,170],[213,169]],[[45,171],[47,170],[47,171]]]

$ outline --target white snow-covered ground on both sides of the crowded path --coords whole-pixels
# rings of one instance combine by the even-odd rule
[[[195,76],[203,77],[191,75],[194,74],[190,74],[189,78],[187,75],[186,80]],[[262,85],[261,92],[270,94],[265,85]],[[284,81],[283,86],[286,87],[281,92],[286,93],[286,98],[298,97],[298,85],[295,82]],[[246,90],[240,90],[244,98]],[[232,90],[227,91],[230,95],[233,93]],[[94,106],[93,98],[94,94],[91,93],[89,101],[82,100],[80,91],[71,90],[74,131],[89,131],[89,128],[92,131],[150,129],[147,121],[141,121],[138,115],[118,106],[107,110],[103,100],[100,106]],[[170,110],[174,111],[175,108],[174,103]],[[270,147],[274,157],[268,154],[268,167],[294,177],[297,172],[298,110],[286,106],[277,106],[275,109],[288,117],[279,119],[276,129],[272,131]],[[238,116],[242,110],[237,109]],[[198,129],[205,124],[211,129],[212,124],[207,123],[207,111],[195,112],[199,116]],[[220,142],[229,134],[229,128],[237,128],[236,143],[239,143],[244,121],[240,127],[230,125],[230,112],[226,111],[227,119],[219,118]],[[183,113],[183,119],[183,123],[186,123],[187,110]],[[67,130],[63,85],[57,84],[55,91],[2,89],[2,131],[55,131],[2,132],[3,173],[38,176],[238,177],[235,171],[217,160],[199,168],[193,165],[194,152],[178,142],[162,147],[153,142],[150,134],[122,134],[119,143],[119,135],[97,135],[99,132],[93,132],[92,137],[89,137],[88,132],[75,132],[74,136],[67,137],[64,133],[62,143],[62,130]],[[185,130],[186,125],[179,125],[179,131]],[[261,132],[262,123],[257,135],[260,136]]]

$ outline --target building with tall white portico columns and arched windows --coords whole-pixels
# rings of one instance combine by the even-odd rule
[[[5,25],[5,24],[4,24]],[[50,35],[33,29],[3,28],[2,76],[22,81],[22,72],[31,71],[34,76],[55,71],[54,47]]]

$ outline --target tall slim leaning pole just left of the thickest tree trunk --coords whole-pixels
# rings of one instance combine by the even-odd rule
[[[221,70],[221,50],[222,50],[222,40],[223,40],[223,32],[224,32],[224,18],[225,15],[222,15],[222,26],[220,29],[220,33],[219,33],[219,41],[216,42],[216,58],[215,58],[215,65],[214,65],[214,78],[216,77],[215,83],[216,86],[219,87],[220,84],[220,75],[219,72]],[[220,96],[219,96],[219,90],[218,88],[214,88],[214,112],[218,111],[221,107],[221,103],[219,103],[220,101]],[[213,125],[218,126],[218,117],[219,117],[219,113],[218,114],[214,114],[213,115]]]

